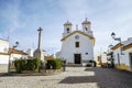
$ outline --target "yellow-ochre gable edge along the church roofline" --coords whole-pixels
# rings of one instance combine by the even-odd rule
[[[84,33],[84,32],[81,32],[81,31],[74,31],[74,32],[72,32],[70,34],[68,34],[68,35],[66,35],[65,37],[63,37],[61,41],[65,41],[66,38],[68,38],[69,36],[72,36],[72,35],[75,34],[75,33],[79,33],[79,34],[81,34],[81,35],[85,35],[85,36],[89,37],[90,40],[92,40],[94,45],[95,45],[95,37],[88,35],[88,34],[86,34],[86,33]]]

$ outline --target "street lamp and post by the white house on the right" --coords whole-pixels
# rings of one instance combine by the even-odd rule
[[[111,33],[111,37],[112,37],[114,41],[119,41],[119,43],[120,43],[120,54],[118,54],[118,63],[119,63],[119,65],[120,65],[120,57],[121,57],[121,55],[123,55],[123,54],[122,54],[121,37],[116,37],[116,33],[114,33],[114,32]],[[120,55],[120,56],[119,56],[119,55]]]

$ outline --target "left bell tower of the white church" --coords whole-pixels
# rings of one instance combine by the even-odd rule
[[[73,24],[67,21],[66,23],[64,23],[64,33],[63,36],[66,36],[67,34],[72,33],[72,26]]]

